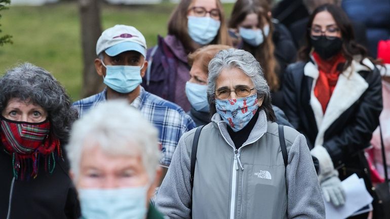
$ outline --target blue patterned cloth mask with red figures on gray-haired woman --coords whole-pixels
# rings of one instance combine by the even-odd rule
[[[238,132],[251,121],[259,105],[255,94],[238,99],[215,99],[215,107],[222,120]]]

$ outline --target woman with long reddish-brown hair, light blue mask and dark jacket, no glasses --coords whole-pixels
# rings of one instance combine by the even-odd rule
[[[284,108],[281,84],[288,64],[295,62],[296,48],[290,32],[271,18],[267,0],[238,0],[228,23],[236,48],[250,52],[264,69],[272,104]]]

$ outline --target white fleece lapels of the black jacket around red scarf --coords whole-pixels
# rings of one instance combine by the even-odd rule
[[[322,112],[320,101],[314,94],[314,87],[319,76],[317,64],[312,58],[304,66],[304,75],[313,78],[310,91],[310,106],[313,109],[318,128],[314,145],[323,144],[325,131],[367,90],[368,83],[358,72],[373,70],[375,65],[367,58],[363,60],[363,64],[367,66],[353,60],[351,65],[340,74],[325,114]]]

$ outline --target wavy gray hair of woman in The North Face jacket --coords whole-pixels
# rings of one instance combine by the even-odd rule
[[[239,68],[251,78],[258,98],[263,98],[260,109],[265,111],[267,119],[275,122],[276,117],[271,104],[271,94],[267,82],[264,79],[263,70],[255,57],[247,51],[239,49],[226,49],[219,51],[209,63],[209,77],[207,79],[207,95],[209,97],[210,113],[215,109],[215,81],[222,69]]]

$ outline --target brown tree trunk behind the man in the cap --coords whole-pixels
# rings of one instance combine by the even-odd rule
[[[104,87],[94,64],[96,42],[102,32],[99,3],[99,0],[79,0],[84,64],[82,97],[96,94]]]

